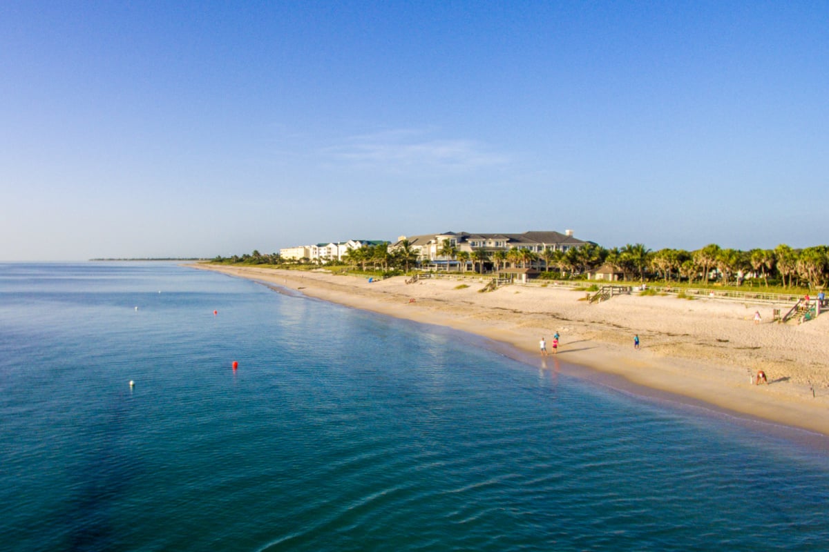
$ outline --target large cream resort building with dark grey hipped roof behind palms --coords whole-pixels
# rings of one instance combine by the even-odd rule
[[[389,246],[390,251],[402,246],[402,242],[408,239],[409,246],[417,252],[421,262],[430,264],[452,264],[441,251],[444,243],[448,242],[458,252],[472,253],[476,250],[483,250],[487,253],[496,251],[509,251],[512,248],[526,249],[533,253],[541,253],[546,249],[551,251],[566,252],[575,247],[583,247],[589,242],[574,238],[572,230],[565,230],[565,233],[555,231],[531,231],[521,234],[510,233],[468,233],[468,232],[446,232],[439,234],[423,234],[406,238],[400,236],[397,242]]]

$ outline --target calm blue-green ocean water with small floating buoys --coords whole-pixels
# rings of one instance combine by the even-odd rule
[[[825,452],[485,345],[173,263],[0,264],[0,550],[829,549]]]

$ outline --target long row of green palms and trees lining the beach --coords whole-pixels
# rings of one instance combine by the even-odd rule
[[[312,263],[310,259],[285,260],[279,253],[250,254],[233,257],[216,257],[212,262],[225,264],[261,265],[308,265],[358,266],[361,271],[410,271],[412,268],[429,266],[428,259],[419,258],[418,252],[408,240],[395,247],[388,242],[364,245],[351,249],[342,261]],[[448,240],[438,249],[443,270],[478,273],[499,271],[507,267],[536,268],[540,271],[557,272],[560,277],[584,276],[600,266],[608,266],[623,274],[626,281],[659,280],[684,281],[691,285],[706,285],[718,282],[723,285],[739,286],[749,276],[752,281],[759,279],[765,286],[823,288],[829,284],[829,246],[820,245],[794,249],[780,244],[773,249],[738,249],[720,247],[710,243],[695,251],[670,247],[652,251],[642,243],[628,243],[624,247],[606,248],[594,243],[573,247],[562,252],[550,248],[541,252],[513,247],[509,250],[473,249],[459,251]],[[435,267],[433,264],[432,267]]]

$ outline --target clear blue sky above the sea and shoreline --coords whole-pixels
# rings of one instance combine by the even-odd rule
[[[829,242],[827,2],[0,2],[0,260]]]

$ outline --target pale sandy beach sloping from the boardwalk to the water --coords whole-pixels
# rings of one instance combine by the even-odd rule
[[[397,276],[370,283],[327,271],[193,266],[478,334],[544,369],[829,436],[829,314],[788,325],[771,321],[773,305],[734,300],[634,294],[589,305],[579,300],[584,291],[556,286],[479,293],[485,281],[457,289],[461,282],[450,280],[406,284]],[[755,311],[760,324],[754,324]],[[554,355],[556,332],[561,337]],[[639,350],[633,348],[634,334],[641,339]],[[539,353],[542,336],[550,351],[546,358]],[[749,383],[749,374],[758,370],[768,385]]]

